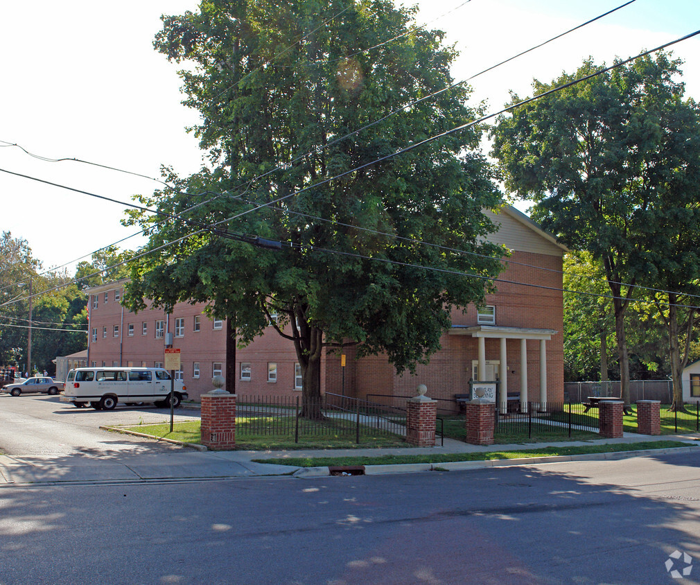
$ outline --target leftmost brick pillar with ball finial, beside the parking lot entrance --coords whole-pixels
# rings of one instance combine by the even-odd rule
[[[212,382],[216,390],[202,394],[202,444],[215,451],[235,449],[236,395],[221,390],[221,376],[215,376]]]

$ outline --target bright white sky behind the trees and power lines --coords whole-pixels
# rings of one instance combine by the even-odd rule
[[[420,1],[428,22],[463,0]],[[408,2],[412,4],[413,2]],[[447,32],[461,57],[456,80],[538,44],[623,0],[472,0],[430,24]],[[199,169],[202,153],[184,128],[197,113],[181,106],[178,67],[153,50],[160,15],[195,10],[195,0],[35,0],[3,5],[0,141],[44,157],[70,157],[160,176]],[[508,90],[530,94],[533,78],[573,72],[584,57],[611,63],[700,29],[697,0],[636,0],[630,6],[472,81],[474,99],[500,109]],[[687,94],[700,99],[700,36],[673,49],[685,59]],[[1,143],[0,143],[1,145]],[[0,148],[0,169],[129,202],[157,183],[76,162],[36,160]],[[0,172],[0,230],[29,242],[45,268],[90,258],[130,236],[124,206]],[[137,248],[132,238],[122,246]]]

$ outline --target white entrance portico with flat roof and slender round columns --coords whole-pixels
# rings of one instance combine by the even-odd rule
[[[486,380],[486,339],[499,340],[498,362],[498,409],[505,414],[508,397],[508,362],[507,340],[520,340],[520,409],[527,411],[528,404],[528,339],[539,341],[539,365],[540,365],[540,400],[547,402],[547,341],[552,339],[556,330],[531,329],[526,327],[497,327],[495,325],[452,325],[449,331],[451,335],[467,335],[477,339],[477,378],[478,381]]]

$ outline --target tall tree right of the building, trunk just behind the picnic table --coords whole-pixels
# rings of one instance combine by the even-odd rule
[[[679,66],[664,53],[636,59],[516,108],[493,132],[507,186],[533,199],[533,216],[564,243],[602,262],[626,403],[624,316],[635,285],[649,284],[650,274],[668,260],[662,240],[673,218],[682,217],[669,209],[668,197],[689,185],[686,178],[696,171],[688,167],[699,160],[696,140],[685,143],[688,134],[678,127],[685,119],[692,121],[689,132],[696,132],[694,104],[682,100]],[[598,69],[589,60],[573,75],[535,81],[535,94]],[[694,197],[694,190],[687,195]],[[663,230],[662,221],[668,222]]]

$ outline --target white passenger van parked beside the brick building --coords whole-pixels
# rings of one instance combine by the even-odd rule
[[[162,367],[79,367],[68,372],[61,401],[78,408],[89,404],[96,410],[112,410],[118,402],[169,407],[171,383]],[[186,389],[182,381],[175,380],[173,407],[186,400]]]

